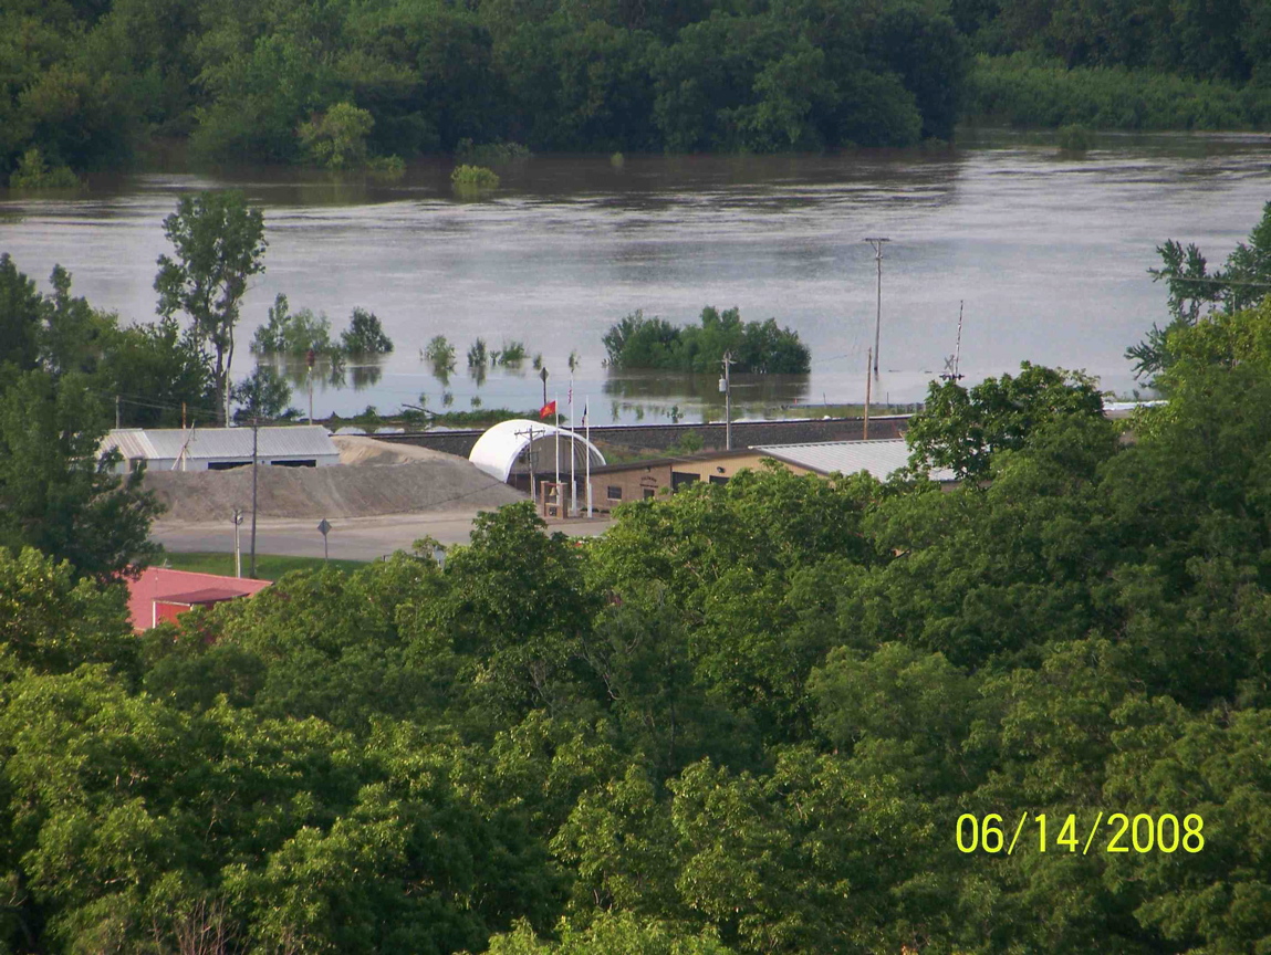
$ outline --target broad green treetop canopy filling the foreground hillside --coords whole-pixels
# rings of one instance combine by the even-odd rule
[[[915,419],[953,490],[745,471],[590,541],[519,504],[140,640],[0,556],[0,946],[1266,950],[1271,304],[1171,343],[1132,442],[1024,367]],[[1205,846],[1059,842],[1122,810]]]

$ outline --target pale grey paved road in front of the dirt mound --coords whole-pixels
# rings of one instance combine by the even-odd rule
[[[375,560],[395,550],[409,550],[421,537],[436,537],[441,544],[466,544],[474,512],[436,512],[391,514],[388,517],[338,518],[330,521],[330,556],[343,560]],[[594,536],[609,527],[608,518],[562,521],[549,530],[571,536]],[[243,552],[248,552],[250,518],[243,523]],[[234,551],[234,524],[156,521],[150,536],[170,551]],[[318,518],[262,519],[255,531],[257,554],[320,558],[322,535]]]

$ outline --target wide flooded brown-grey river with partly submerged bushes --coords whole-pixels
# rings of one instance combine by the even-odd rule
[[[397,351],[375,368],[322,381],[315,411],[381,411],[444,401],[455,410],[530,408],[538,373],[492,371],[464,354],[521,340],[549,370],[548,397],[590,396],[592,420],[690,420],[721,396],[714,377],[611,375],[601,337],[642,309],[697,321],[704,305],[775,317],[812,351],[796,378],[735,378],[741,414],[792,403],[859,403],[873,344],[876,263],[885,236],[881,376],[876,400],[921,399],[953,352],[965,302],[967,381],[1021,361],[1084,368],[1104,387],[1135,385],[1124,358],[1164,319],[1146,269],[1168,237],[1220,263],[1271,201],[1265,136],[1107,136],[1084,157],[1007,133],[963,137],[938,154],[794,157],[539,156],[501,170],[482,202],[450,194],[449,164],[391,184],[296,170],[140,173],[74,199],[0,190],[0,251],[47,288],[55,263],[75,291],[126,319],[154,316],[161,220],[186,190],[234,187],[263,206],[266,272],[247,297],[239,342],[275,295],[325,312],[338,333],[355,306],[384,323]],[[459,363],[438,381],[421,349],[444,334]],[[235,370],[250,370],[240,347]],[[446,397],[449,396],[449,397]],[[306,396],[297,389],[294,404]],[[580,411],[581,413],[581,411]]]

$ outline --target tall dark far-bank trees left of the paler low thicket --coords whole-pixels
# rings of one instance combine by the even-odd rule
[[[526,146],[909,145],[951,136],[962,47],[941,5],[907,0],[17,0],[0,182],[32,149],[61,177],[156,136],[337,170],[435,150],[489,165]]]

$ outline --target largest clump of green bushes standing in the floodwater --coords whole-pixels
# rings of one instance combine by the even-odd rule
[[[700,328],[677,328],[636,311],[610,325],[602,340],[611,368],[709,372],[731,353],[737,371],[791,375],[806,373],[812,361],[798,333],[778,328],[777,319],[744,323],[740,310],[709,305]]]

